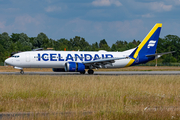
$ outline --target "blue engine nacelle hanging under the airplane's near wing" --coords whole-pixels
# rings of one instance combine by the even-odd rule
[[[67,62],[65,63],[66,72],[83,72],[85,65],[83,63]]]

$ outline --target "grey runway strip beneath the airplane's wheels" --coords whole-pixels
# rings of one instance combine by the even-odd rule
[[[21,75],[19,72],[0,72],[1,75]],[[79,72],[26,72],[23,75],[82,75]],[[89,75],[89,74],[84,74]],[[93,75],[180,75],[180,71],[95,71]]]

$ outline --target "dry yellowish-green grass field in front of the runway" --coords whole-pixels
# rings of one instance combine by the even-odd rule
[[[0,75],[0,112],[50,113],[28,119],[178,119],[179,86],[178,75]]]

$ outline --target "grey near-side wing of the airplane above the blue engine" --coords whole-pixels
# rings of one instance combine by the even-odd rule
[[[87,62],[82,62],[85,66],[90,67],[91,69],[94,68],[106,68],[105,65],[109,64],[111,66],[112,63],[115,62],[115,60],[120,60],[120,59],[127,59],[129,57],[119,57],[119,58],[104,58],[104,59],[97,59],[94,61],[87,61]]]

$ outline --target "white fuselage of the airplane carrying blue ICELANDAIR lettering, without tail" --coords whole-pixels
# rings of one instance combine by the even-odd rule
[[[106,52],[106,51],[27,51],[13,55],[6,59],[6,63],[20,68],[64,68],[67,62],[86,62],[103,58],[128,57],[134,49],[124,52]],[[131,58],[115,60],[111,65],[107,64],[105,68],[125,67]]]

